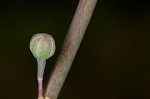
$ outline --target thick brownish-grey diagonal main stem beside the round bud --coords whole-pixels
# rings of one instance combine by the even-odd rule
[[[76,13],[63,43],[61,53],[48,82],[45,92],[46,99],[57,99],[89,24],[96,2],[97,0],[79,1]]]

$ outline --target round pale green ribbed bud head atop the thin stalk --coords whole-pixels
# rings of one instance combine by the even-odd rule
[[[55,41],[46,33],[37,33],[32,36],[30,50],[37,59],[45,60],[53,56],[55,52]]]

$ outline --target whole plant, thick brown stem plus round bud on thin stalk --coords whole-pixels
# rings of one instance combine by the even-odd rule
[[[43,91],[43,74],[46,59],[55,52],[55,41],[47,33],[37,33],[30,41],[30,50],[37,59],[38,99],[57,99],[65,78],[80,46],[97,0],[80,0],[74,18],[62,45],[47,88]]]

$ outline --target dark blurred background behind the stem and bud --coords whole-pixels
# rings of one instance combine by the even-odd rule
[[[57,59],[79,0],[0,1],[0,98],[37,99],[33,34],[56,41],[44,84]],[[58,99],[150,98],[150,3],[98,0]]]

